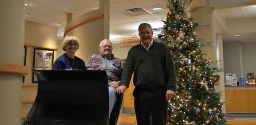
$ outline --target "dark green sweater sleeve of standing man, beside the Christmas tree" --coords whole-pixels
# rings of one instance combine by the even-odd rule
[[[172,55],[168,48],[166,47],[165,52],[165,67],[166,67],[166,78],[167,78],[167,90],[173,90],[175,91],[176,86],[176,72],[175,67],[172,59]]]

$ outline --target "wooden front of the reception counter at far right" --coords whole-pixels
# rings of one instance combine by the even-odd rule
[[[226,113],[256,113],[256,86],[225,86]]]

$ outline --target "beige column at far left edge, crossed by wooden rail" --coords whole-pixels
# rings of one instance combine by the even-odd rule
[[[0,65],[23,65],[24,28],[24,0],[1,0]],[[0,125],[21,124],[22,78],[15,71],[0,70]]]

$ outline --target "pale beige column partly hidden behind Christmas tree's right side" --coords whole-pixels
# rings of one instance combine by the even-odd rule
[[[210,8],[209,6],[204,6],[198,9],[195,12],[191,13],[191,17],[194,19],[194,22],[197,22],[199,25],[209,25],[209,29],[204,29],[201,31],[195,31],[198,35],[198,39],[201,39],[201,41],[207,41],[212,42],[212,47],[203,47],[201,49],[204,50],[205,53],[207,53],[206,58],[210,59],[211,61],[216,61],[217,59],[220,59],[223,61],[223,51],[222,51],[222,36],[219,36],[218,38],[218,44],[216,44],[216,33],[215,33],[215,24],[214,24],[214,14],[213,14],[213,8]],[[221,38],[221,39],[220,39]],[[217,53],[218,50],[221,50],[219,53]],[[223,62],[221,62],[223,64]],[[217,66],[216,66],[217,67]],[[218,74],[216,74],[218,75]],[[225,101],[225,88],[224,88],[224,73],[220,72],[219,74],[221,76],[219,80],[219,84],[215,84],[215,92],[222,92],[221,100]],[[226,106],[224,104],[222,111],[226,113]]]

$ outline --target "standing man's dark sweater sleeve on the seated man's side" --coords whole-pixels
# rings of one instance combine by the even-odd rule
[[[134,70],[133,53],[132,53],[132,49],[130,49],[126,57],[125,65],[122,71],[122,80],[121,80],[120,86],[123,85],[123,86],[126,86],[126,88],[129,87],[133,70]]]

